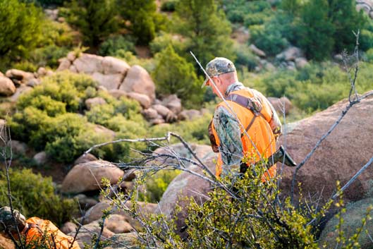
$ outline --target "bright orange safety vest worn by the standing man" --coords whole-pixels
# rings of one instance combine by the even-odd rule
[[[255,94],[255,90],[244,88],[241,90],[237,90],[231,92],[230,95],[240,95],[246,98],[254,98],[259,100],[260,104],[262,105],[262,109],[258,114],[255,114],[254,111],[251,111],[247,107],[243,107],[242,105],[238,104],[237,102],[227,100],[229,107],[227,107],[225,102],[221,102],[216,106],[218,107],[225,107],[229,112],[232,112],[231,109],[236,113],[240,123],[247,129],[247,134],[250,138],[247,137],[243,128],[240,128],[241,131],[241,142],[243,145],[243,154],[244,157],[248,159],[247,166],[250,164],[255,164],[258,162],[261,157],[268,158],[276,152],[276,139],[274,137],[274,133],[271,130],[271,126],[269,125],[269,121],[272,118],[272,109],[269,105],[269,102],[263,95]],[[229,95],[228,95],[229,97]],[[227,97],[227,99],[229,99]],[[214,123],[212,123],[212,134],[216,140],[216,145],[220,145],[219,137],[216,133]],[[251,141],[250,141],[251,140]],[[255,147],[252,145],[254,144]],[[259,154],[260,156],[259,156]],[[219,153],[218,161],[216,162],[216,176],[220,176],[221,174],[221,166],[223,165],[223,161],[221,160],[221,154]],[[265,181],[266,178],[269,176],[274,177],[276,174],[276,164],[271,166],[271,168],[264,174],[262,177],[262,181]]]

